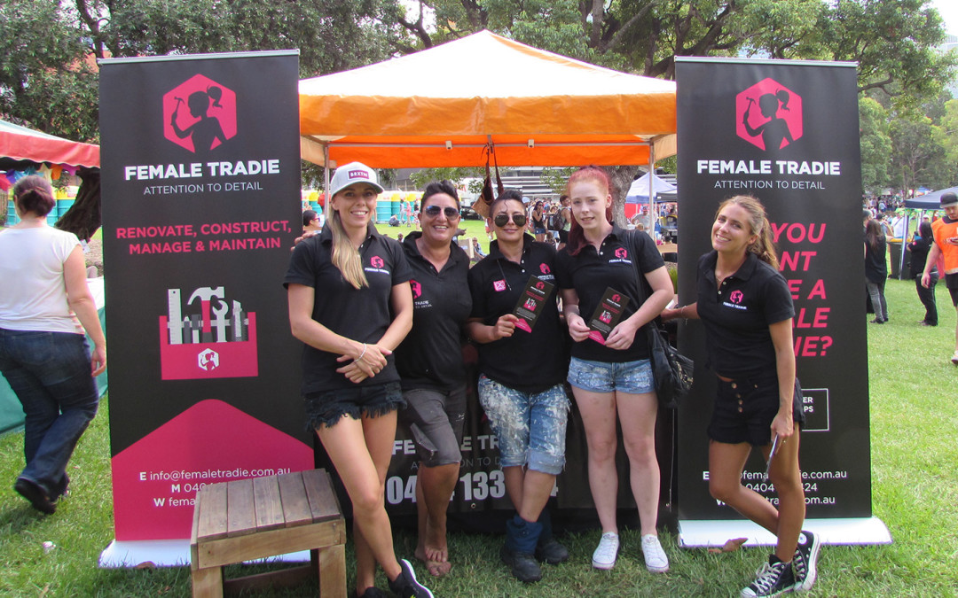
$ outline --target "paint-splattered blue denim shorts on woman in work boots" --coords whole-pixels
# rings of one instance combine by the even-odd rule
[[[522,392],[480,376],[479,402],[499,444],[503,467],[528,466],[552,476],[562,472],[571,405],[562,385]]]

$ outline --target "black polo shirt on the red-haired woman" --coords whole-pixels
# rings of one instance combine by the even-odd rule
[[[651,289],[645,277],[641,281],[636,272],[643,274],[665,265],[655,242],[648,234],[639,231],[624,231],[612,225],[612,232],[604,238],[599,251],[585,245],[579,255],[569,255],[566,247],[556,260],[556,279],[559,287],[575,289],[579,296],[579,313],[586,322],[602,300],[605,289],[612,287],[629,299],[622,320],[626,320],[641,307],[641,298],[649,298]],[[642,284],[643,288],[639,289]],[[622,321],[620,320],[620,321]],[[572,344],[572,356],[592,362],[623,363],[649,359],[648,333],[645,326],[635,332],[635,340],[624,351],[610,349],[604,344],[585,339]]]

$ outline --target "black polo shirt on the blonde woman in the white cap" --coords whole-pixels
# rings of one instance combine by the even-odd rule
[[[389,303],[393,287],[408,281],[412,272],[399,241],[382,236],[373,225],[369,226],[359,255],[369,286],[356,289],[332,265],[332,232],[325,227],[322,233],[296,246],[283,285],[288,288],[289,284],[303,284],[314,289],[313,320],[359,343],[377,343],[393,321]],[[336,361],[337,357],[335,353],[304,345],[304,394],[399,381],[393,355],[387,356],[382,371],[358,385],[336,372],[344,365]]]

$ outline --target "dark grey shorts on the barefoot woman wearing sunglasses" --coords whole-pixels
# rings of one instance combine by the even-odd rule
[[[463,425],[466,422],[466,387],[443,392],[413,388],[402,393],[406,409],[399,420],[412,432],[416,454],[424,467],[439,467],[463,460]]]

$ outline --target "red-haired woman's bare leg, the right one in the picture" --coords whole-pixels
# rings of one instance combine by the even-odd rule
[[[654,392],[616,392],[616,406],[628,455],[632,497],[639,509],[642,535],[657,536],[659,468],[655,458],[655,418],[658,399]]]

